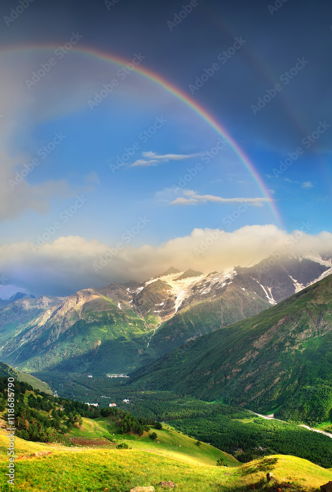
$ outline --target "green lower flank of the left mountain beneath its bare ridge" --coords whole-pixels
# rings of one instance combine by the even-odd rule
[[[129,307],[119,308],[111,299],[99,296],[94,306],[85,306],[81,319],[75,321],[75,312],[67,315],[67,323],[70,318],[72,324],[63,333],[56,323],[44,323],[43,319],[24,325],[5,349],[9,352],[24,342],[19,356],[8,355],[2,360],[15,361],[19,369],[30,372],[56,369],[105,374],[133,369],[156,357],[146,350],[146,334],[159,322],[155,315],[141,318]],[[139,359],[143,362],[138,363]]]

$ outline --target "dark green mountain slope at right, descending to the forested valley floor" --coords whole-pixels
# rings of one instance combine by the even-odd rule
[[[283,419],[329,420],[332,275],[277,306],[182,345],[131,377],[142,389],[222,399],[275,411]]]

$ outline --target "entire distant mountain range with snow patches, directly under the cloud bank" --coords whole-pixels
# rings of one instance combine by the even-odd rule
[[[145,282],[113,282],[64,299],[21,299],[0,309],[0,358],[30,371],[126,372],[274,306],[329,272],[331,258],[271,257],[250,268],[208,275],[171,268]]]

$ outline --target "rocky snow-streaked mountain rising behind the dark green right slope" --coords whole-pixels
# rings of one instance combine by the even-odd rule
[[[278,262],[271,257],[251,268],[235,267],[198,278],[179,292],[176,313],[156,332],[150,347],[163,355],[190,339],[257,314],[331,272],[330,257],[284,256]]]

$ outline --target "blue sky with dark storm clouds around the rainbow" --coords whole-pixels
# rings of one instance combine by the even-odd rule
[[[2,17],[7,16],[4,24],[9,25],[0,34],[0,267],[8,277],[0,286],[0,297],[16,287],[63,295],[85,287],[91,276],[92,284],[102,285],[153,272],[158,258],[162,264],[181,263],[181,254],[177,258],[165,253],[164,246],[191,237],[194,230],[235,234],[260,226],[271,235],[267,227],[274,225],[291,234],[308,223],[307,234],[331,233],[329,2],[285,2],[271,15],[265,1],[249,5],[237,0],[229,5],[198,0],[170,30],[167,22],[173,21],[181,5],[120,0],[108,8],[103,1],[85,1],[78,9],[73,1],[31,3],[17,19],[8,21],[12,2],[1,4]],[[72,33],[83,36],[75,45],[80,48],[102,50],[128,62],[135,54],[142,55],[141,66],[192,95],[249,157],[270,190],[281,224],[229,145],[208,163],[203,159],[220,134],[183,101],[137,72],[121,80],[115,63],[74,49],[61,59],[55,55]],[[7,51],[22,43],[53,48]],[[52,57],[55,64],[49,72],[34,85],[27,84]],[[91,109],[88,101],[114,78],[119,84]],[[201,78],[207,80],[197,82]],[[194,84],[199,87],[193,91]],[[48,146],[48,154],[40,150],[43,146]],[[115,168],[117,157],[128,151],[132,154],[128,161]],[[21,179],[17,173],[32,159],[40,164],[26,173],[22,183],[10,185],[10,180]],[[175,192],[174,185],[195,166],[196,175]],[[100,245],[113,247],[140,217],[146,218],[146,226],[130,241],[132,256],[119,252],[118,264],[112,264],[105,278],[95,277],[93,271],[89,276],[91,262],[84,255],[98,255]],[[53,229],[31,259],[31,243]],[[78,257],[83,254],[80,248],[85,251],[87,277],[71,273],[75,280],[68,285],[66,248],[74,254],[68,238],[76,236],[92,245],[89,252],[83,243],[77,246]],[[67,246],[58,251],[54,242],[59,238]],[[262,241],[267,243],[264,234]],[[165,254],[156,252],[154,266],[141,270],[137,251],[144,247]],[[234,254],[228,261],[239,264],[240,256]],[[218,263],[211,256],[206,268],[214,261]],[[39,274],[32,281],[33,272],[37,269],[42,276],[45,265],[62,269],[63,275],[45,285]]]

